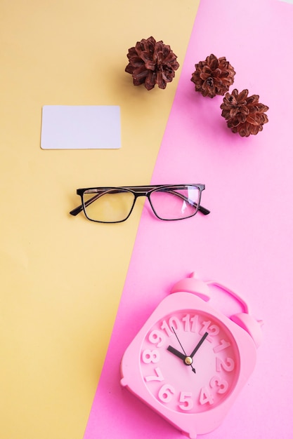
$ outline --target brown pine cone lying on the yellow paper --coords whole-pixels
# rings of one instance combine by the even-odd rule
[[[129,49],[127,58],[129,64],[125,72],[132,74],[135,86],[144,84],[147,90],[152,90],[155,84],[166,88],[179,67],[170,46],[163,41],[156,42],[153,36],[138,41],[135,47]]]

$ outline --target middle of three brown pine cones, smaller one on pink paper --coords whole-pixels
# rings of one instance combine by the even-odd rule
[[[234,82],[235,70],[230,62],[223,56],[207,56],[205,61],[195,64],[195,72],[190,81],[195,83],[195,91],[200,91],[203,96],[223,96]]]

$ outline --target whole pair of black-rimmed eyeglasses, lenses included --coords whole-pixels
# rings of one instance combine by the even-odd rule
[[[200,205],[203,190],[204,184],[77,189],[82,204],[71,210],[70,215],[75,216],[84,210],[90,221],[123,222],[131,214],[138,196],[146,196],[156,217],[164,221],[193,217],[198,210],[208,215],[210,211]]]

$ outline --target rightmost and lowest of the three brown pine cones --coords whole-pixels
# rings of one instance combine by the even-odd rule
[[[235,88],[231,94],[226,93],[221,104],[228,128],[242,137],[259,133],[263,130],[263,123],[268,122],[265,114],[268,107],[259,102],[259,95],[247,96],[248,90],[238,93]]]

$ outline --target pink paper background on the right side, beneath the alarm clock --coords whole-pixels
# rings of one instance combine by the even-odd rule
[[[85,439],[182,437],[121,389],[119,363],[171,285],[194,270],[243,295],[265,321],[254,374],[204,437],[292,437],[292,23],[293,6],[280,1],[201,1],[152,182],[206,184],[211,214],[163,223],[145,207]],[[230,133],[222,98],[194,92],[195,62],[210,53],[231,62],[235,88],[270,107],[259,135]]]

